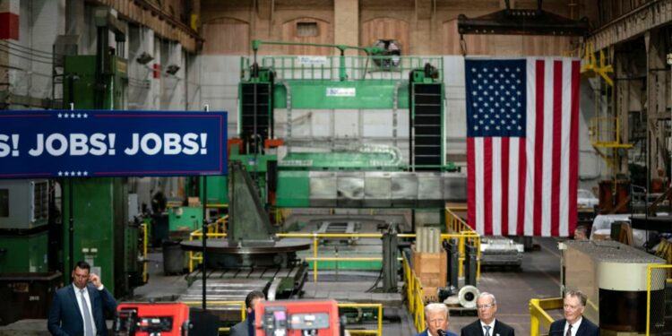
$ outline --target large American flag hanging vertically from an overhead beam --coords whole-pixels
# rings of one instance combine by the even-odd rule
[[[478,233],[573,234],[579,69],[573,58],[465,61],[468,220]]]

